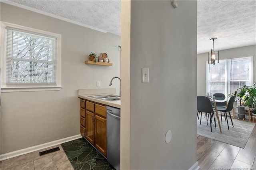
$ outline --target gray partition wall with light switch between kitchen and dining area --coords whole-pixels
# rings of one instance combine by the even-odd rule
[[[196,163],[196,43],[197,1],[178,1],[177,9],[170,1],[131,1],[131,169]]]

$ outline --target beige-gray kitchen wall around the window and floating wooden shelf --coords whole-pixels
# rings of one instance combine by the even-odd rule
[[[1,21],[62,35],[60,91],[1,93],[1,154],[80,134],[78,89],[109,88],[120,76],[120,36],[1,3]],[[86,65],[106,52],[112,67]],[[119,93],[119,80],[113,88]]]

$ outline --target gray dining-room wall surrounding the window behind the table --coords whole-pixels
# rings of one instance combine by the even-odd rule
[[[219,53],[220,59],[237,58],[253,55],[254,82],[256,81],[256,45],[221,50]],[[208,61],[207,57],[207,53],[197,55],[197,95],[206,95],[206,61]]]

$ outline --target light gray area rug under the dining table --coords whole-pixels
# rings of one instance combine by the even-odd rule
[[[221,119],[220,119],[220,122],[221,122]],[[208,125],[206,125],[206,118],[203,118],[203,115],[202,115],[201,125],[200,125],[200,118],[199,120],[197,120],[197,134],[207,138],[218,140],[220,142],[238,146],[240,148],[244,148],[244,146],[246,145],[250,137],[250,134],[252,133],[255,123],[234,119],[233,124],[234,124],[234,127],[232,127],[232,123],[230,121],[230,118],[228,117],[228,125],[229,125],[229,130],[228,130],[228,125],[225,122],[225,119],[223,117],[222,124],[220,124],[222,134],[220,134],[220,129],[217,121],[216,121],[216,128],[214,123],[212,123],[212,132],[211,132],[210,120],[208,120]]]

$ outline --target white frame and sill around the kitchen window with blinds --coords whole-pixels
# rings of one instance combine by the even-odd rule
[[[15,30],[20,30],[24,32],[28,32],[31,34],[36,34],[40,36],[48,36],[56,38],[56,83],[11,83],[8,84],[6,80],[7,74],[7,65],[6,65],[6,32],[7,28],[13,28]],[[18,92],[18,91],[58,91],[62,89],[61,87],[61,35],[47,32],[43,30],[38,30],[35,28],[29,28],[25,26],[20,26],[16,24],[11,24],[7,22],[1,22],[1,92]]]

